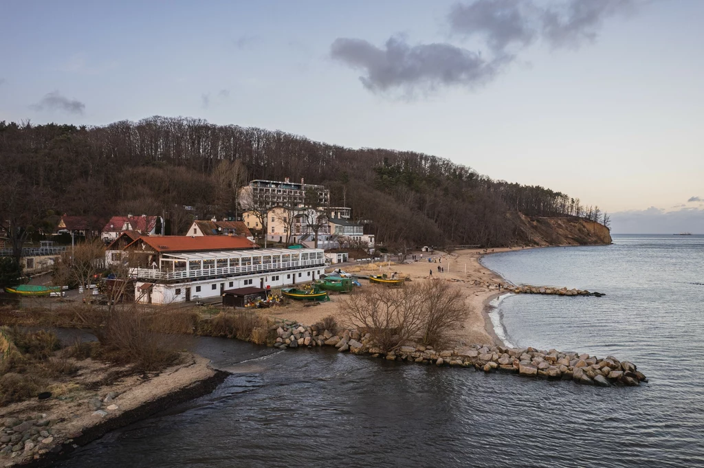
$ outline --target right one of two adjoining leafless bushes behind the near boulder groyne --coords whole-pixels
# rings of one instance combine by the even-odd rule
[[[444,279],[431,279],[419,286],[422,296],[422,341],[432,346],[441,346],[447,332],[467,319],[469,311],[462,291]]]

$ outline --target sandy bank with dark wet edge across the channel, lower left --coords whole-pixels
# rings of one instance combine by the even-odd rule
[[[92,391],[80,391],[68,400],[13,403],[2,408],[0,421],[6,424],[11,420],[15,424],[23,421],[21,426],[27,426],[21,430],[18,426],[8,426],[15,430],[13,434],[32,434],[44,429],[50,431],[51,440],[32,445],[42,447],[38,453],[27,452],[25,448],[21,455],[3,457],[0,462],[5,467],[49,467],[110,431],[211,393],[228,375],[210,367],[210,360],[191,354],[181,364],[149,379],[132,374]]]

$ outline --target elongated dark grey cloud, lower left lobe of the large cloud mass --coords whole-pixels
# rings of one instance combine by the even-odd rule
[[[363,70],[360,81],[370,91],[473,86],[491,80],[503,65],[503,60],[485,61],[478,53],[451,44],[410,46],[395,37],[382,48],[363,39],[339,38],[332,43],[330,54]]]

